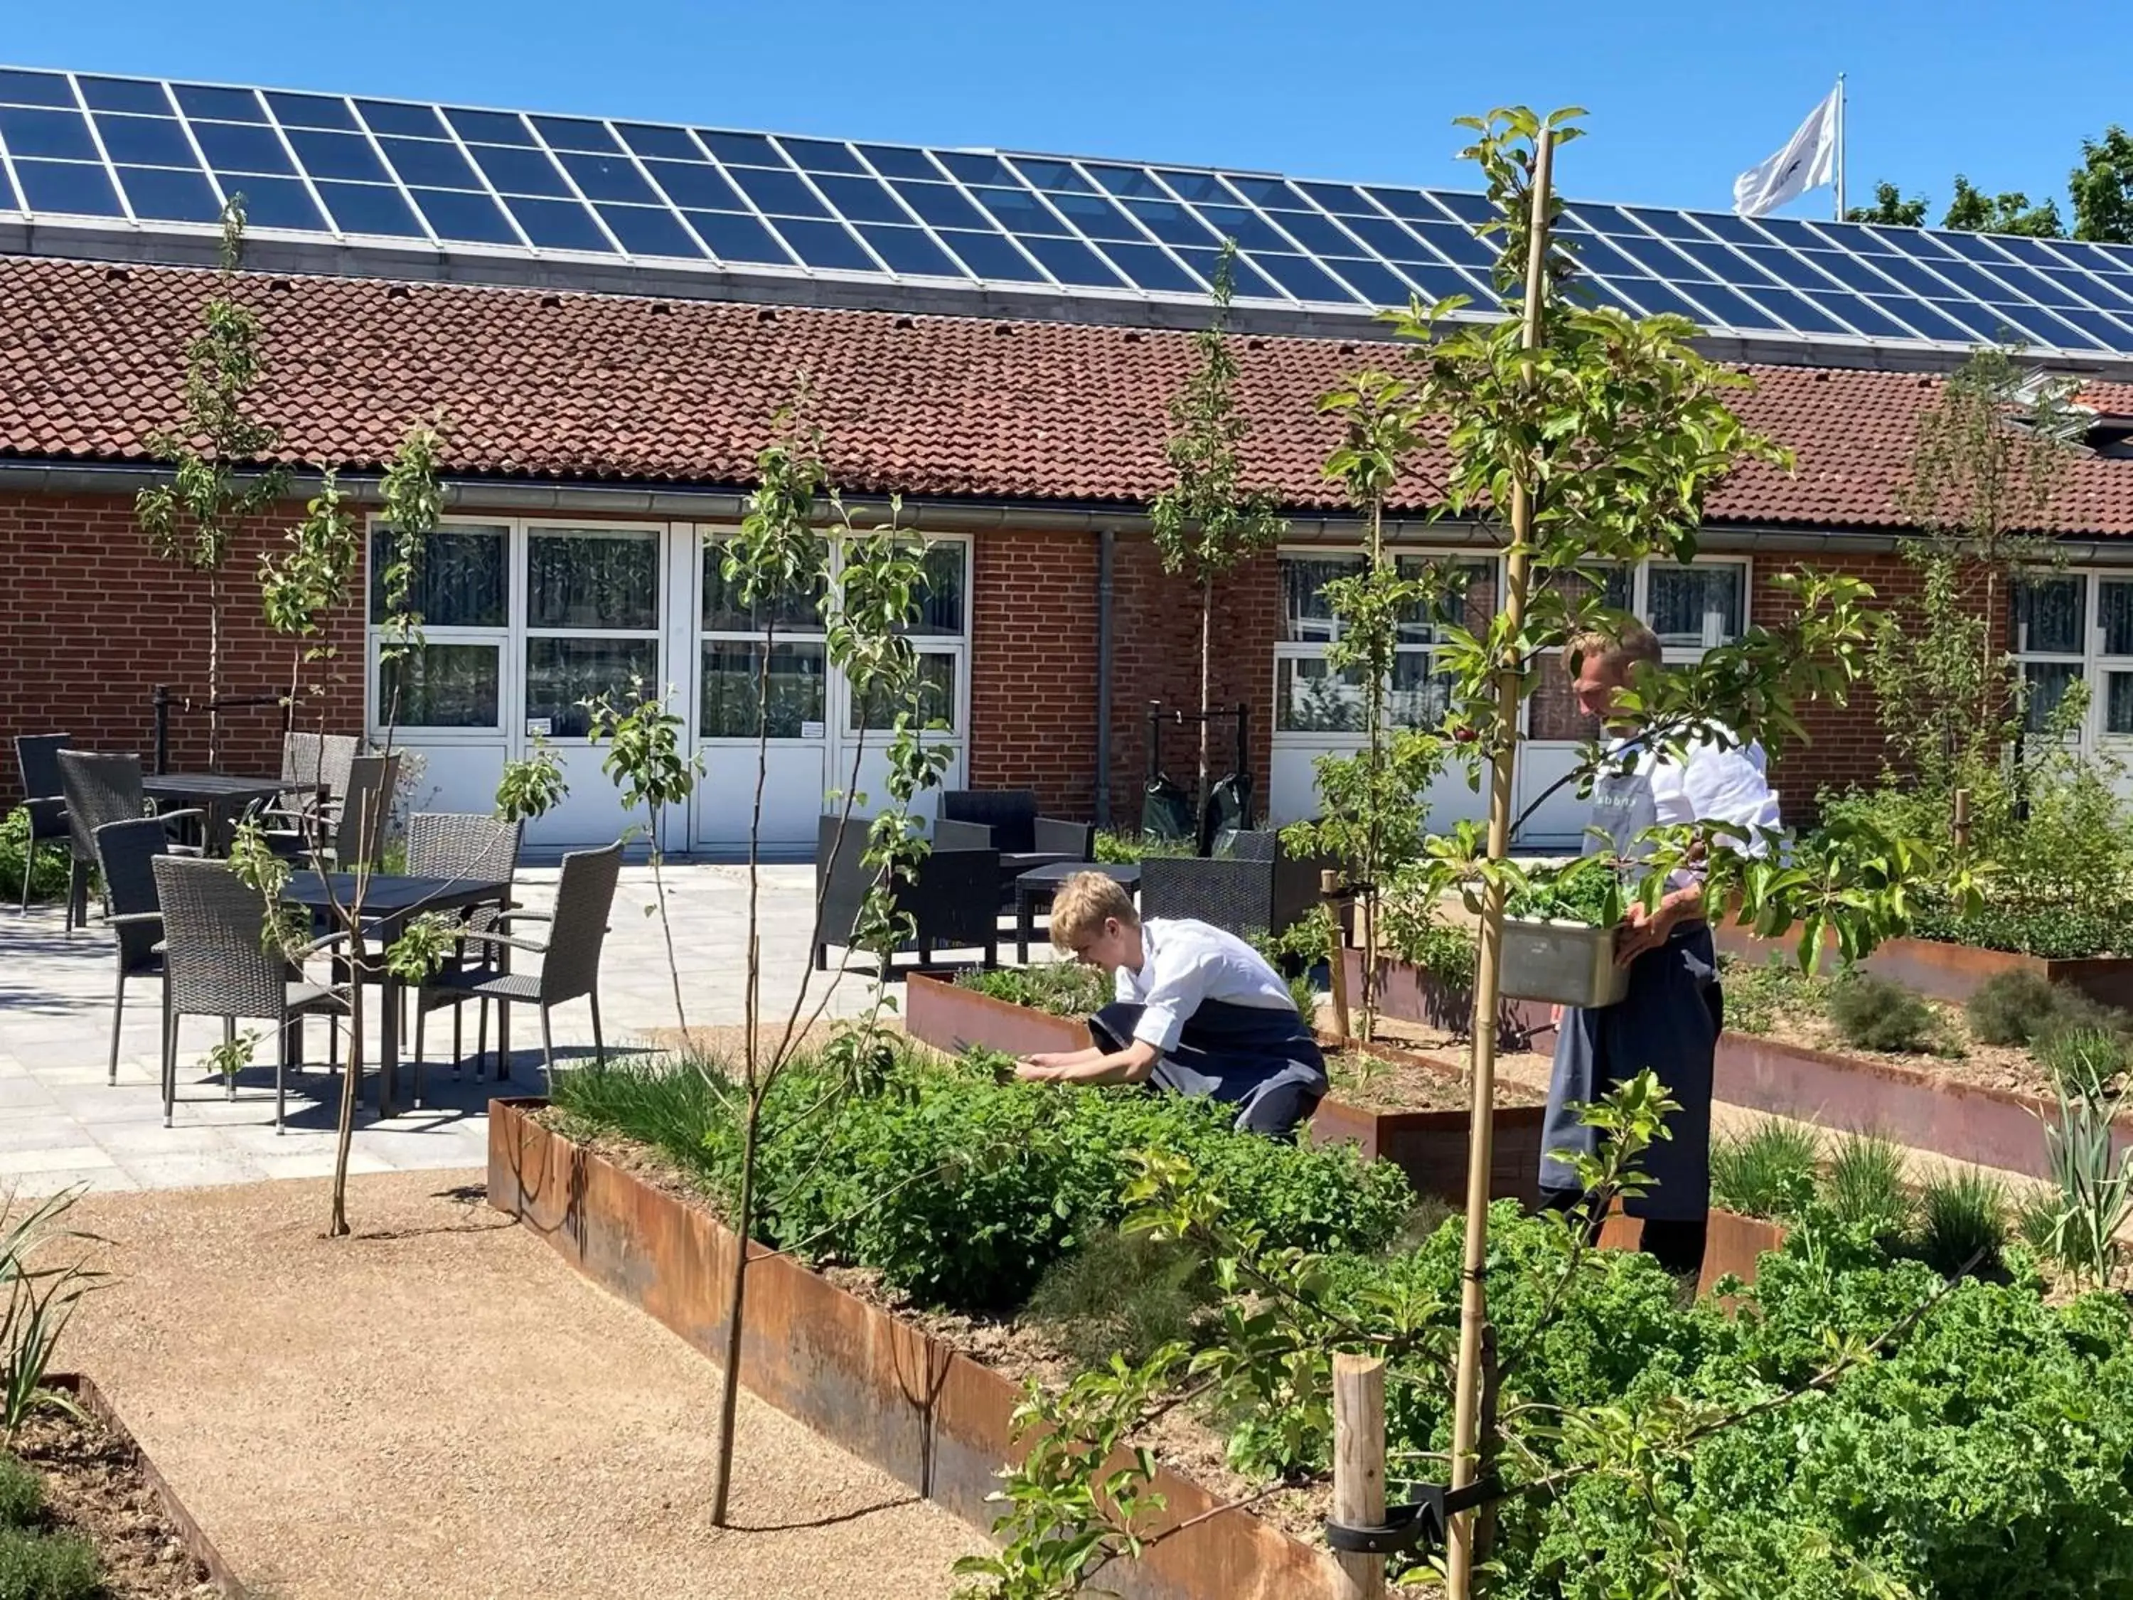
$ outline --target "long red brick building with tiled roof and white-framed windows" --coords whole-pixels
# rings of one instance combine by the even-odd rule
[[[58,102],[51,81],[66,83],[73,111]],[[85,745],[145,749],[151,687],[169,685],[179,702],[203,695],[207,666],[205,580],[149,555],[132,497],[158,480],[145,442],[177,418],[183,348],[218,286],[198,265],[211,228],[201,218],[145,218],[132,201],[124,220],[94,211],[38,215],[38,186],[49,201],[49,186],[58,181],[47,169],[68,162],[26,156],[26,128],[45,141],[58,139],[53,128],[60,124],[51,117],[79,117],[98,128],[105,141],[98,160],[126,194],[132,190],[124,186],[137,183],[134,169],[109,154],[115,134],[107,126],[126,117],[169,122],[194,137],[201,124],[267,128],[282,141],[282,154],[296,160],[307,205],[333,211],[341,205],[339,188],[337,188],[311,171],[324,147],[305,143],[299,137],[305,128],[292,126],[292,117],[331,122],[324,111],[292,109],[299,100],[324,102],[320,96],[213,90],[215,96],[250,96],[230,109],[237,102],[203,100],[207,92],[192,85],[151,87],[171,105],[169,115],[141,100],[145,90],[137,81],[0,73],[0,171],[13,175],[21,198],[13,235],[0,205],[0,252],[11,252],[0,256],[0,563],[6,572],[0,653],[9,687],[0,700],[9,725],[0,736],[64,727]],[[11,96],[26,105],[11,107]],[[126,100],[134,109],[105,113],[100,100]],[[407,166],[412,158],[395,151],[416,137],[378,132],[392,102],[333,105],[367,128],[378,158],[399,164],[395,173]],[[30,111],[43,119],[26,122]],[[209,111],[213,115],[205,115]],[[245,122],[239,111],[254,119]],[[401,111],[448,122],[499,115]],[[461,128],[461,122],[450,126]],[[557,119],[531,117],[514,126],[525,132],[527,149],[570,179],[580,196],[572,203],[582,203],[614,239],[625,237],[625,226],[646,226],[610,215],[629,207],[591,198],[595,169],[587,162],[593,156],[580,162],[561,147],[593,143],[591,134],[559,132],[550,122]],[[627,156],[599,160],[627,162],[646,181],[657,175],[661,194],[680,181],[659,175],[678,162],[644,156],[661,130],[572,126],[597,126],[616,149],[627,147]],[[149,132],[130,128],[126,137],[139,141]],[[697,164],[706,171],[738,177],[770,171],[736,164],[753,147],[736,156],[717,139],[759,137],[700,132],[695,143],[704,160]],[[431,143],[444,147],[442,139]],[[796,162],[817,198],[836,198],[849,213],[857,190],[830,188],[830,177],[798,166],[806,143],[783,141],[781,158]],[[454,147],[476,158],[482,149],[465,139]],[[868,169],[866,183],[889,192],[896,151],[838,149],[845,156],[808,160],[834,166],[849,158]],[[915,215],[919,201],[945,205],[949,188],[979,198],[992,194],[971,177],[958,179],[962,169],[949,156],[962,160],[958,154],[928,156],[943,181],[896,181],[900,203],[911,203]],[[205,173],[218,194],[239,181],[277,192],[264,175],[230,177],[213,166],[213,156],[207,160]],[[250,160],[264,164],[267,156]],[[1060,218],[1088,215],[1090,207],[1075,211],[1058,196],[1047,198],[1039,183],[1066,188],[1066,179],[1043,177],[1049,169],[1035,158],[1015,158],[1013,169],[992,156],[985,160],[1015,171],[1045,205],[1058,201]],[[90,171],[85,160],[77,164]],[[1096,194],[1090,175],[1111,183],[1105,171],[1088,162],[1075,166],[1090,194]],[[79,175],[62,177],[79,181]],[[1186,194],[1186,177],[1162,169],[1171,196],[1162,207],[1194,209],[1177,198]],[[1254,192],[1239,177],[1220,181],[1229,198]],[[510,196],[499,183],[491,181],[497,205],[512,207],[514,218],[535,215],[531,201]],[[919,188],[939,188],[943,196],[913,201],[911,190]],[[1316,196],[1327,207],[1316,222],[1348,228],[1344,237],[1378,239],[1382,230],[1337,213],[1337,198],[1322,194],[1331,188],[1288,186],[1284,194],[1297,194],[1297,205],[1303,194]],[[431,207],[429,190],[405,179],[395,192]],[[1118,186],[1109,192],[1116,196]],[[781,228],[787,241],[815,239],[800,230],[800,220],[783,226],[764,209],[768,188],[751,186],[749,194],[766,228]],[[1267,192],[1256,194],[1258,205],[1271,205]],[[1393,205],[1389,192],[1369,190],[1367,196],[1380,207]],[[1444,207],[1448,222],[1461,211],[1455,203],[1472,196],[1423,198]],[[998,211],[998,203],[985,203]],[[1105,205],[1126,215],[1126,201]],[[43,211],[64,207],[47,203]],[[1199,205],[1199,211],[1214,207]],[[1627,215],[1627,209],[1615,211]],[[674,687],[691,747],[708,762],[697,800],[663,823],[668,849],[725,851],[744,836],[753,791],[753,738],[747,736],[753,708],[744,685],[753,681],[761,631],[757,619],[727,604],[715,550],[740,516],[774,412],[804,375],[808,416],[823,433],[834,480],[855,521],[872,518],[894,493],[904,499],[904,523],[934,540],[934,585],[919,644],[949,723],[951,785],[1032,787],[1060,815],[1120,823],[1137,817],[1148,766],[1148,704],[1190,706],[1199,691],[1197,599],[1186,582],[1160,572],[1145,508],[1167,482],[1165,407],[1190,369],[1190,329],[1205,318],[1203,294],[1084,292],[1052,252],[1037,252],[1028,239],[1022,241],[1030,247],[1028,260],[1052,262],[1052,277],[1041,288],[953,284],[939,273],[898,275],[875,267],[808,271],[800,243],[789,245],[800,267],[779,271],[749,271],[734,260],[700,260],[685,269],[642,258],[642,252],[634,256],[627,247],[595,260],[591,250],[533,243],[529,222],[518,224],[525,235],[516,245],[463,247],[429,215],[424,209],[427,233],[416,245],[307,228],[299,226],[303,218],[290,215],[262,222],[256,211],[250,269],[237,279],[237,292],[258,311],[264,331],[267,375],[256,414],[279,429],[282,457],[296,467],[299,491],[318,469],[335,467],[348,486],[373,495],[378,471],[403,429],[442,420],[450,514],[431,550],[427,640],[397,734],[401,747],[422,755],[420,802],[486,809],[501,762],[523,753],[533,730],[542,730],[563,753],[572,796],[531,830],[529,843],[561,847],[610,838],[621,823],[619,806],[597,770],[597,753],[582,738],[576,702],[619,689],[640,672]],[[723,213],[676,209],[676,215],[693,220],[691,237],[712,239],[710,224]],[[1143,207],[1130,215],[1156,230],[1167,211]],[[1308,235],[1301,209],[1265,215],[1280,218],[1284,237]],[[1226,211],[1220,220],[1233,222]],[[1694,224],[1717,239],[1723,235],[1719,222],[1730,220],[1681,226]],[[1410,239],[1436,241],[1444,260],[1459,267],[1459,247],[1431,230],[1438,224],[1401,226]],[[883,239],[892,230],[887,224],[849,228],[868,241],[877,267],[892,247],[909,243]],[[909,230],[919,233],[917,226]],[[1873,243],[1864,228],[1824,233],[1851,239],[1860,252]],[[928,224],[928,237],[956,241],[962,233]],[[1152,237],[1160,241],[1160,233]],[[1139,260],[1128,250],[1150,245],[1103,247],[1109,260],[1128,262]],[[1197,262],[1190,247],[1162,247],[1171,265]],[[977,256],[977,245],[958,250]],[[1741,245],[1732,254],[1751,260],[1753,250]],[[1290,516],[1290,535],[1278,555],[1218,591],[1212,700],[1250,708],[1258,796],[1276,819],[1293,819],[1312,809],[1312,757],[1354,745],[1354,734],[1342,725],[1352,706],[1327,678],[1329,619],[1318,589],[1359,559],[1359,527],[1322,480],[1320,463],[1335,429],[1318,416],[1316,399],[1344,373],[1397,363],[1399,352],[1376,343],[1382,331],[1369,320],[1365,297],[1359,294],[1348,314],[1297,292],[1276,301],[1273,279],[1295,269],[1284,267],[1286,256],[1276,250],[1258,258],[1269,292],[1246,294],[1237,314],[1241,393],[1252,418],[1246,476],[1273,493]],[[1252,260],[1250,247],[1246,260]],[[1365,282],[1367,262],[1335,258],[1331,265],[1346,279]],[[1395,265],[1416,290],[1444,288],[1425,277],[1427,265]],[[1116,271],[1124,275],[1122,267]],[[2011,267],[1994,271],[2014,282]],[[2067,262],[2054,271],[2075,275]],[[2041,282],[2041,271],[2031,275]],[[2133,256],[2124,275],[2133,286]],[[2101,299],[2112,273],[2095,269],[2090,277],[2099,286],[2084,292]],[[1960,273],[1950,269],[1947,282],[1960,282]],[[1286,279],[1282,284],[1286,288]],[[1634,292],[1653,297],[1659,288],[1659,279],[1651,279],[1649,290]],[[1719,286],[1700,292],[1717,303]],[[1775,301],[1775,292],[1764,299]],[[1930,305],[1956,301],[1922,299],[1918,326],[1928,314],[1939,316]],[[2133,354],[2133,292],[2124,307],[2122,333]],[[1858,322],[1864,316],[1854,311]],[[1770,576],[1790,565],[1837,563],[1862,572],[1883,593],[1905,582],[1894,555],[1905,531],[1896,484],[1939,373],[1962,354],[1952,339],[1773,331],[1751,337],[1738,314],[1723,324],[1717,316],[1704,320],[1713,329],[1709,346],[1738,358],[1753,378],[1738,410],[1792,446],[1796,467],[1790,474],[1751,467],[1726,482],[1711,501],[1704,548],[1694,565],[1610,578],[1619,604],[1647,617],[1677,655],[1734,638],[1749,623],[1777,621],[1781,595]],[[2105,322],[2120,326],[2112,318]],[[2080,343],[2078,326],[2084,324],[2054,324],[2065,331],[2056,343],[2035,335],[2039,365],[2124,378],[2127,356],[2107,348],[2101,335]],[[2026,670],[2041,683],[2069,676],[2092,683],[2088,738],[2110,745],[2133,740],[2133,459],[2118,452],[2114,425],[2133,414],[2133,390],[2092,382],[2088,397],[2097,412],[2092,448],[2075,463],[2050,529],[2065,542],[2069,565],[2039,587],[2022,612],[2024,627],[2014,631]],[[262,518],[228,563],[224,693],[273,691],[288,681],[290,646],[264,631],[252,574],[258,555],[282,538],[296,510],[292,503]],[[1474,529],[1429,521],[1429,510],[1425,486],[1404,493],[1395,506],[1393,544],[1404,555],[1450,553],[1470,561],[1465,604],[1474,614],[1485,612],[1497,587],[1493,553],[1478,544]],[[371,621],[367,606],[352,606],[335,623],[339,663],[328,702],[335,727],[375,730],[380,670]],[[853,770],[860,787],[868,787],[872,757],[855,725],[857,708],[823,672],[819,634],[808,638],[806,627],[781,623],[776,638],[779,723],[766,834],[798,847],[813,838],[823,789],[843,787]],[[1416,634],[1404,649],[1395,685],[1404,704],[1423,715],[1429,653],[1431,640]],[[1519,774],[1521,804],[1555,783],[1585,732],[1559,685],[1542,691],[1531,717],[1534,742]],[[1809,723],[1815,742],[1787,755],[1777,774],[1794,813],[1817,787],[1871,777],[1881,759],[1864,708],[1815,708]],[[232,710],[224,730],[226,766],[273,764],[277,713]],[[1226,759],[1226,736],[1218,740],[1218,764]],[[171,759],[181,766],[205,759],[198,717],[173,719]],[[1165,759],[1186,774],[1190,736],[1173,732]],[[13,798],[13,789],[9,768],[0,777],[0,798]],[[1436,817],[1474,815],[1478,804],[1461,781],[1448,779],[1436,796]],[[1578,806],[1559,794],[1534,813],[1527,841],[1563,841],[1576,828]]]

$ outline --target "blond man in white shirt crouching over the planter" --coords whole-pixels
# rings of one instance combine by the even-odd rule
[[[1156,1084],[1237,1107],[1237,1129],[1276,1139],[1327,1092],[1325,1058],[1288,983],[1248,943],[1190,917],[1141,922],[1124,887],[1079,873],[1052,898],[1052,945],[1113,973],[1088,1050],[1030,1056],[1035,1084]]]

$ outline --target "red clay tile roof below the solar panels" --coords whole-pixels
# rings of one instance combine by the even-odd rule
[[[213,286],[177,267],[0,260],[0,457],[145,459],[143,439],[175,420],[181,350]],[[1165,403],[1192,363],[1182,333],[1118,326],[354,277],[247,275],[243,294],[267,329],[260,416],[292,459],[341,467],[380,465],[412,420],[442,412],[454,474],[738,486],[806,373],[845,489],[1139,503],[1167,482]],[[1250,337],[1239,361],[1250,482],[1293,510],[1337,510],[1318,469],[1335,429],[1316,399],[1397,350]],[[1749,373],[1738,410],[1798,465],[1743,469],[1713,518],[1898,525],[1935,380]],[[1408,495],[1423,497],[1427,484]],[[2133,461],[2084,459],[2058,525],[2133,533]]]

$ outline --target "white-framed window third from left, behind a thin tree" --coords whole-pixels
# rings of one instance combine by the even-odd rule
[[[757,599],[753,606],[744,606],[738,585],[727,582],[725,550],[725,540],[704,540],[697,736],[755,738],[761,700],[770,713],[766,719],[770,738],[821,738],[828,685],[821,621],[830,585],[828,548],[813,580]]]

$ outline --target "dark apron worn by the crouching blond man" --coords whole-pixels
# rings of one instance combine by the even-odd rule
[[[1124,1050],[1143,1009],[1113,1001],[1088,1020],[1090,1039],[1103,1052]],[[1235,1105],[1239,1133],[1286,1139],[1327,1092],[1327,1062],[1293,1009],[1201,1001],[1148,1082]]]

